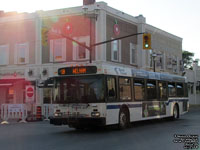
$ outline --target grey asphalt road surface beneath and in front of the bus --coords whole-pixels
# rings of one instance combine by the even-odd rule
[[[174,137],[175,134],[182,135],[182,139],[185,135],[198,135],[196,140],[200,142],[200,107],[190,110],[177,121],[139,122],[122,131],[114,128],[77,131],[48,122],[0,125],[0,149],[183,150],[184,143],[174,143],[174,140],[180,140]]]

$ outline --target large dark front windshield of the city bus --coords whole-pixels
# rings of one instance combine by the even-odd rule
[[[103,76],[56,78],[53,103],[89,103],[104,100]]]

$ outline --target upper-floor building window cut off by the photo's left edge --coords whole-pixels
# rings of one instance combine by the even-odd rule
[[[9,46],[0,45],[0,65],[9,64]]]

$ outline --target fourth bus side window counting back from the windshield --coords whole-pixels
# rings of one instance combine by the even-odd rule
[[[147,80],[147,99],[148,100],[157,99],[155,80]]]

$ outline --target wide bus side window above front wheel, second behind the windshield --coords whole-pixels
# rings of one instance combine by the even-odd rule
[[[131,100],[131,82],[129,78],[119,78],[120,100]]]

